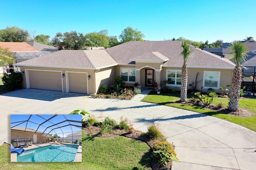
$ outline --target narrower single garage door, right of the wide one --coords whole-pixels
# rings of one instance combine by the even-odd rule
[[[87,74],[85,73],[68,73],[69,92],[87,94]]]

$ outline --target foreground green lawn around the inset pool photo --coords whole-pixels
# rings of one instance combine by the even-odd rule
[[[146,143],[117,136],[91,138],[82,131],[82,162],[10,162],[10,145],[0,146],[1,170],[150,170]]]

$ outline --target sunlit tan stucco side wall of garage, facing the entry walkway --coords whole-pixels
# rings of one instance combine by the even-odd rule
[[[118,74],[119,75],[119,74]],[[117,76],[116,74],[116,67],[108,67],[108,68],[102,68],[100,70],[97,70],[95,72],[95,87],[96,92],[99,93],[100,87],[105,84],[108,88],[110,88],[111,85],[114,85],[114,78]]]

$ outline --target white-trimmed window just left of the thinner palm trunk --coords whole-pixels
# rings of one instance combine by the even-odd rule
[[[167,84],[170,85],[181,85],[181,70],[166,70]]]

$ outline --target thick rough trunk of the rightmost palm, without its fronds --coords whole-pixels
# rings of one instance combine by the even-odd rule
[[[239,98],[241,94],[241,83],[242,68],[240,66],[236,66],[232,72],[230,100],[228,103],[228,109],[231,111],[238,110]]]

